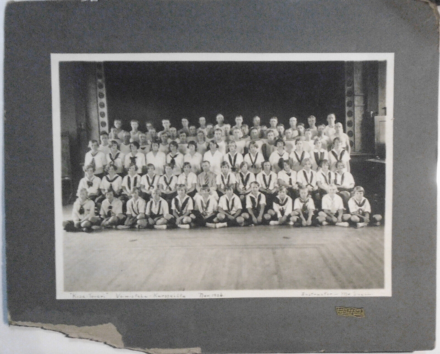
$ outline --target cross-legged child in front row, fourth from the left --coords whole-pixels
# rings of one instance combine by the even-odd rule
[[[165,230],[168,220],[171,218],[167,201],[161,198],[161,191],[158,188],[153,188],[151,199],[145,207],[145,219],[139,219],[137,222],[139,229],[154,227],[155,229]]]

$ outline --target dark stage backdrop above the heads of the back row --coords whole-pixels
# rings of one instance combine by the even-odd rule
[[[161,128],[168,118],[177,128],[180,119],[190,124],[198,117],[215,123],[222,113],[235,124],[241,114],[251,124],[277,116],[289,124],[295,116],[326,121],[328,113],[345,117],[344,62],[106,62],[109,124],[115,118],[130,129],[129,121],[145,120]],[[174,123],[176,122],[176,123]]]

